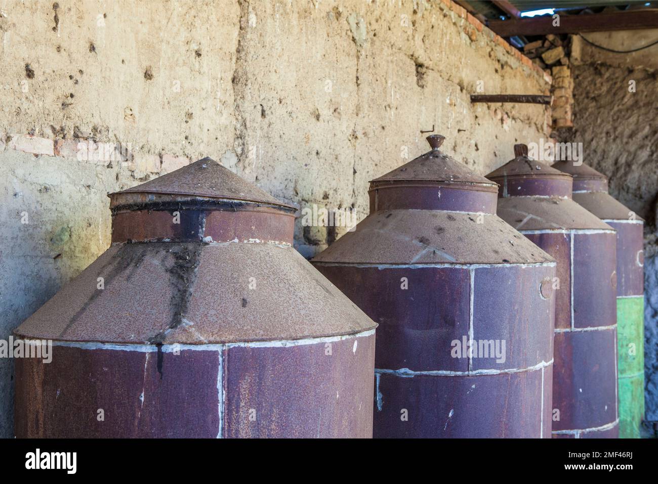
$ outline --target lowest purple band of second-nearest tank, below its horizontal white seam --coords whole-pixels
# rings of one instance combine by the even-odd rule
[[[528,438],[551,435],[551,368],[482,376],[378,374],[378,437]],[[544,380],[542,385],[542,379]],[[430,406],[428,402],[432,402]],[[544,408],[542,409],[542,404]],[[408,421],[401,420],[401,409]]]

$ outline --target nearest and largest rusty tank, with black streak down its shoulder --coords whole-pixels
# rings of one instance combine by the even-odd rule
[[[211,158],[109,196],[111,247],[15,331],[53,340],[16,360],[17,437],[372,436],[376,324],[295,208]]]

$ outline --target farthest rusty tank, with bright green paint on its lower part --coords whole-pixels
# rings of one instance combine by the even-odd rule
[[[574,180],[573,199],[617,230],[619,437],[639,438],[644,420],[644,220],[608,194],[608,179],[586,164],[553,164]]]

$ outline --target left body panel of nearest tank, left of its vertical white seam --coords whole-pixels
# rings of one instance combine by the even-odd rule
[[[215,438],[218,362],[217,351],[63,346],[49,364],[17,359],[16,437]]]

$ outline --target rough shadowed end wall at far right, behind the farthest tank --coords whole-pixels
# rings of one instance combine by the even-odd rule
[[[586,34],[599,45],[628,50],[658,30]],[[610,193],[645,219],[646,418],[658,421],[658,45],[616,54],[573,37],[574,129],[584,162],[610,179]],[[634,81],[635,91],[629,91]]]

